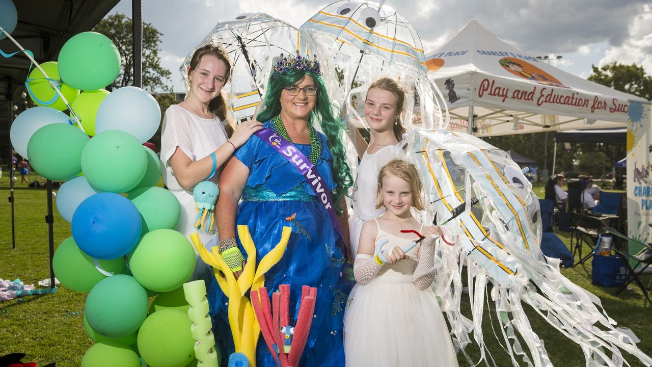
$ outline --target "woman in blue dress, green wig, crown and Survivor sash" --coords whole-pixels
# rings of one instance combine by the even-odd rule
[[[258,114],[264,129],[251,136],[224,168],[216,214],[220,253],[235,276],[246,263],[235,235],[237,225],[249,227],[257,263],[278,243],[282,228],[292,228],[282,259],[265,273],[265,287],[271,296],[278,285],[290,285],[291,326],[296,323],[301,287],[317,287],[314,318],[299,365],[340,367],[350,289],[342,270],[344,238],[348,239],[344,196],[353,180],[341,141],[342,121],[333,114],[320,75],[317,59],[307,56],[281,56],[274,65]],[[215,279],[209,288],[218,338],[223,352],[230,354],[228,300]],[[256,360],[258,366],[276,366],[263,338]]]

